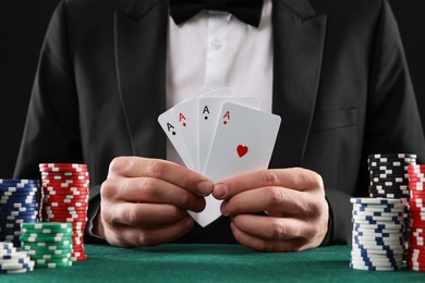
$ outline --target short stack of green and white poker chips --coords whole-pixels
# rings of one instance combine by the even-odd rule
[[[71,223],[22,223],[21,249],[28,253],[36,268],[72,266]]]

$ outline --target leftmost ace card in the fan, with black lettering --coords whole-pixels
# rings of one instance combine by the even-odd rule
[[[171,142],[172,146],[179,152],[179,156],[183,160],[184,164],[194,170],[194,165],[189,156],[189,152],[184,146],[183,136],[178,127],[178,123],[174,119],[174,112],[172,109],[167,110],[158,116],[158,122],[161,125],[163,132],[167,134],[167,137]]]

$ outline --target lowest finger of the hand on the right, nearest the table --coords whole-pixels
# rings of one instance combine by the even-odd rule
[[[299,239],[269,241],[253,236],[241,231],[235,224],[230,224],[234,238],[248,248],[257,251],[300,251],[305,249],[305,245]]]

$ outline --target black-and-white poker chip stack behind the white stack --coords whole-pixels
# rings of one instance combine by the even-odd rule
[[[376,198],[401,199],[404,204],[404,257],[406,257],[410,238],[409,210],[409,173],[408,167],[416,164],[416,155],[387,153],[369,155],[368,170],[371,175],[369,196]]]

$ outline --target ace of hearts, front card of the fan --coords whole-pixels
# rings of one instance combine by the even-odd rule
[[[281,119],[256,109],[226,102],[205,169],[219,181],[268,168]]]

